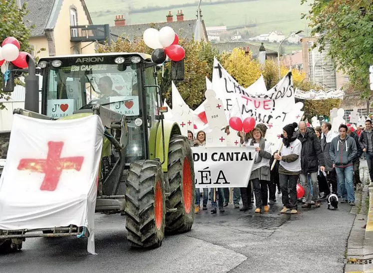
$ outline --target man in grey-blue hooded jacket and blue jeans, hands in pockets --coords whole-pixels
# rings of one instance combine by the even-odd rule
[[[347,126],[341,124],[339,127],[339,136],[333,138],[330,144],[330,157],[336,167],[338,180],[340,183],[341,202],[349,202],[355,205],[354,192],[354,164],[353,160],[358,154],[354,138],[347,134]]]

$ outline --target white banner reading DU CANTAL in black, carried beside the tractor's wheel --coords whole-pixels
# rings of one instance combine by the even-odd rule
[[[203,187],[246,187],[255,147],[192,147],[195,183]]]

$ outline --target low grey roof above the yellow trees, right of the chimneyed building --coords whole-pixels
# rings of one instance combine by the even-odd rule
[[[243,48],[245,52],[251,52],[253,58],[258,58],[260,48],[260,46],[245,41],[213,43],[212,47],[216,48],[219,53],[232,52],[234,48]],[[277,51],[266,48],[266,59],[276,61]]]

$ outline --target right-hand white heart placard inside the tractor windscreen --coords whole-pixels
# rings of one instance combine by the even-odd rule
[[[110,96],[109,99],[111,110],[124,114],[126,116],[139,115],[138,96]]]

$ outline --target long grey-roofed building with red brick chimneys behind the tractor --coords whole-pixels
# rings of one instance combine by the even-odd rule
[[[170,26],[172,29],[180,36],[188,39],[195,37],[195,32],[197,28],[197,19],[184,20],[183,11],[178,11],[176,15],[177,20],[173,20],[173,15],[171,11],[166,15],[166,21],[156,22],[156,23],[142,23],[142,24],[126,24],[126,19],[123,15],[116,16],[114,20],[114,26],[110,26],[111,37],[114,41],[117,40],[119,36],[126,37],[132,40],[134,37],[142,38],[144,31],[149,27],[154,27],[156,29],[161,29],[163,26]],[[208,35],[206,31],[206,26],[204,20],[201,19],[201,39],[208,41]],[[152,26],[150,26],[152,25]]]

